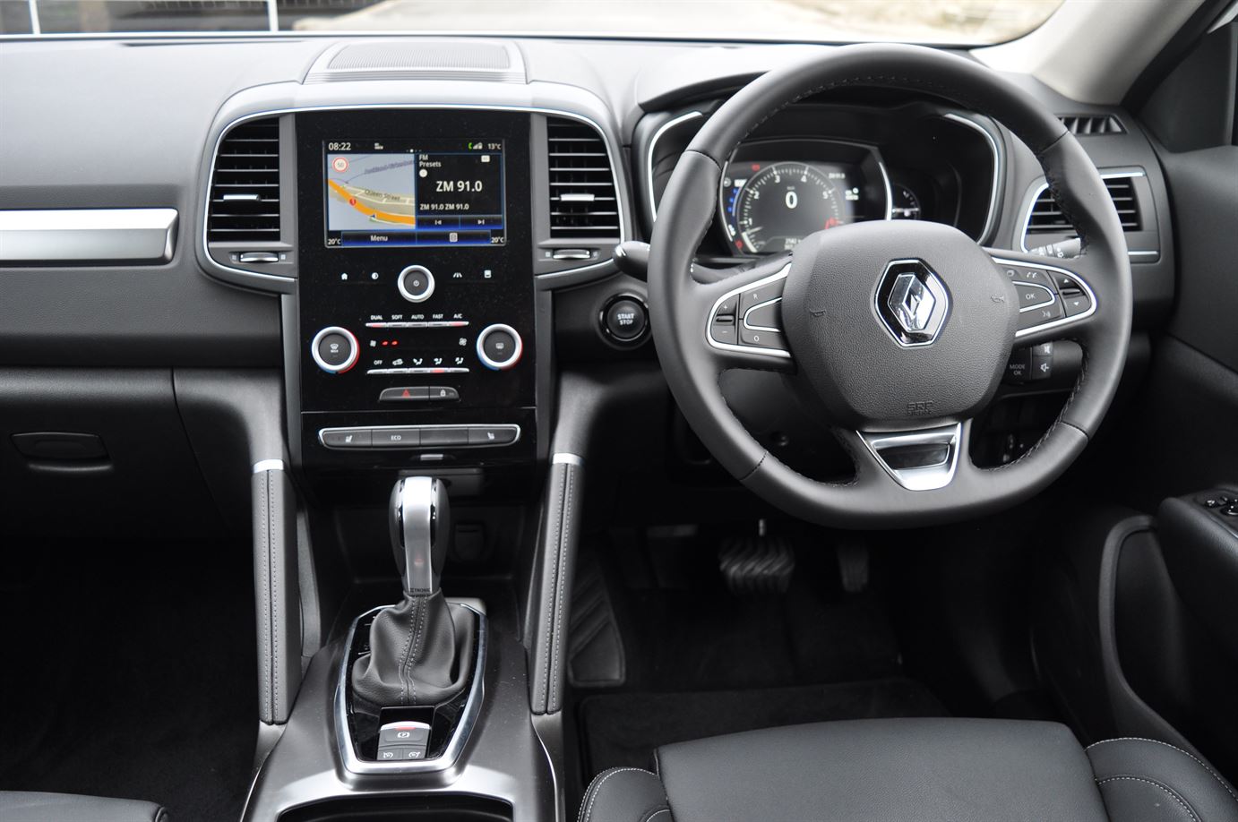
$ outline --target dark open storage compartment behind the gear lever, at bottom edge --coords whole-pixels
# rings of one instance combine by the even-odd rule
[[[511,822],[511,806],[478,796],[363,796],[314,802],[279,822]]]

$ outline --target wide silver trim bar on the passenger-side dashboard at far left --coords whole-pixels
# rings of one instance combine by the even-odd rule
[[[177,217],[175,208],[0,210],[0,262],[168,262]]]

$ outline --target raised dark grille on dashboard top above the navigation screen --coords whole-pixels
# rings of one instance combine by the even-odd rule
[[[347,80],[524,83],[525,61],[515,43],[499,40],[378,40],[333,46],[306,74],[306,83]]]

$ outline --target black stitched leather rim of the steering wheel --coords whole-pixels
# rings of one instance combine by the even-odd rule
[[[971,418],[933,420],[936,426],[957,425],[959,432],[953,446],[957,467],[951,467],[950,480],[940,488],[911,490],[895,482],[889,465],[865,446],[868,441],[842,426],[831,428],[855,464],[854,478],[829,483],[797,473],[753,438],[727,406],[718,384],[723,370],[770,368],[769,358],[744,354],[719,358],[708,344],[709,312],[728,283],[743,287],[745,277],[751,282],[753,277],[769,275],[774,266],[785,264],[779,260],[764,267],[740,266],[721,272],[725,276],[721,281],[693,267],[696,250],[714,219],[727,158],[747,135],[787,105],[849,85],[928,93],[1002,123],[1035,154],[1050,189],[1081,238],[1080,255],[1068,260],[989,251],[1008,262],[1058,266],[1088,286],[1093,311],[1086,317],[1026,334],[1019,332],[1023,335],[1018,339],[1019,344],[1075,340],[1083,350],[1083,365],[1061,415],[1040,442],[1011,463],[977,468],[968,449]],[[831,230],[848,231],[863,225]],[[885,231],[889,234],[890,229]],[[873,275],[875,280],[875,274],[860,271],[855,276]],[[706,447],[766,501],[800,519],[841,527],[910,527],[963,519],[999,510],[1040,491],[1066,470],[1096,433],[1117,391],[1130,338],[1132,283],[1125,238],[1092,161],[1056,116],[997,72],[919,46],[834,48],[822,57],[764,74],[727,100],[692,140],[666,187],[650,241],[649,288],[652,335],[662,370],[681,411]],[[1013,287],[1010,296],[1011,309],[1016,311]],[[993,296],[994,302],[1000,300]],[[797,306],[782,306],[784,314],[795,309]],[[1011,319],[1008,329],[1013,328]],[[948,333],[947,321],[942,337]],[[1014,342],[1006,343],[1006,355]],[[794,347],[791,354],[796,354]],[[994,379],[989,397],[995,385]],[[904,427],[915,427],[905,422]]]

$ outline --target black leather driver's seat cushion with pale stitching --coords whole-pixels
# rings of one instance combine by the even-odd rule
[[[1236,822],[1238,794],[1146,739],[1080,746],[1065,727],[865,719],[660,748],[657,772],[593,780],[579,822]]]

